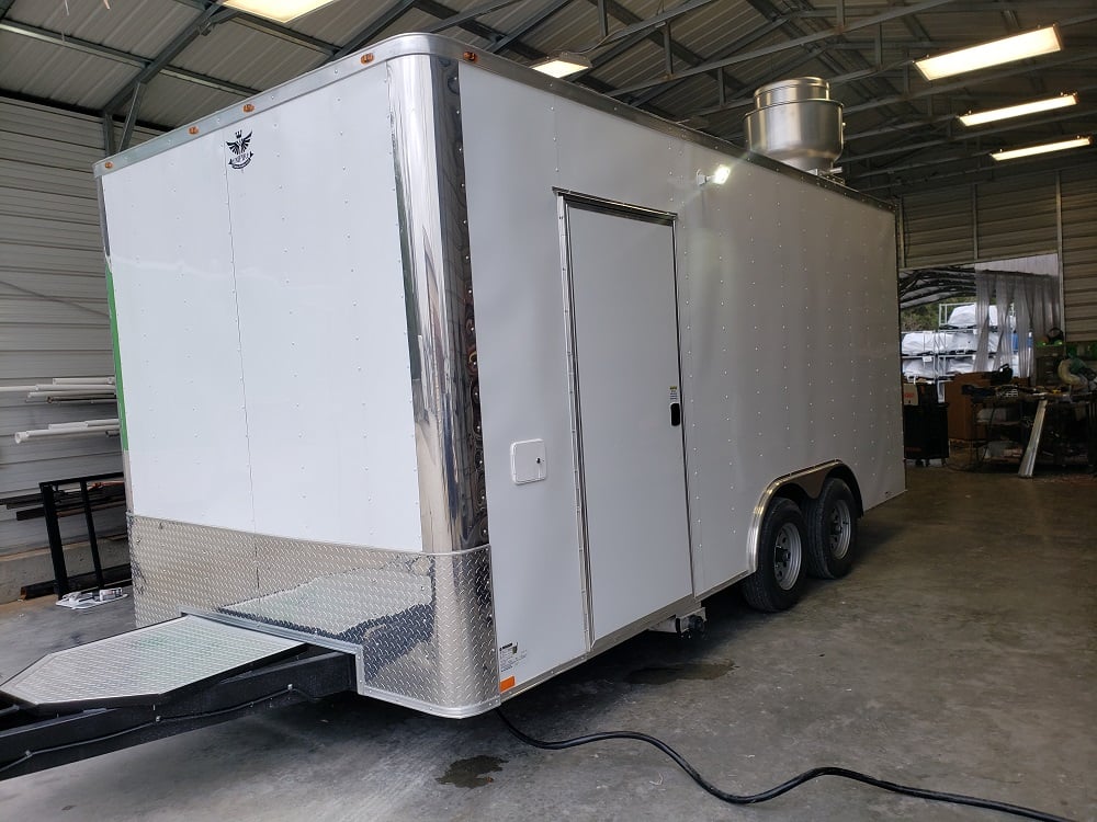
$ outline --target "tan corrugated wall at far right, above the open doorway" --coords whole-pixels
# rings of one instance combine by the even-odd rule
[[[901,267],[1058,253],[1067,341],[1097,340],[1097,167],[904,195]]]

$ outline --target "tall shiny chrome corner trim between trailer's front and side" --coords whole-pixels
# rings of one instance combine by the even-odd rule
[[[488,541],[457,60],[388,62],[423,550]]]

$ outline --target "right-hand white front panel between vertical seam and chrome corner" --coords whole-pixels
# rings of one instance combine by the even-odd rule
[[[332,107],[352,114],[317,127]],[[240,126],[218,139],[261,534],[422,544],[387,109],[370,72],[249,119],[242,169]]]

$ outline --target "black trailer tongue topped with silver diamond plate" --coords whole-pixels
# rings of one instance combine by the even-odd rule
[[[0,778],[354,688],[354,658],[200,616],[48,654],[0,685]]]

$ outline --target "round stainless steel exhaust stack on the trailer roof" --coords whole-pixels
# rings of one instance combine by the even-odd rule
[[[762,85],[745,118],[747,147],[801,171],[830,174],[841,153],[841,103],[818,77]]]

